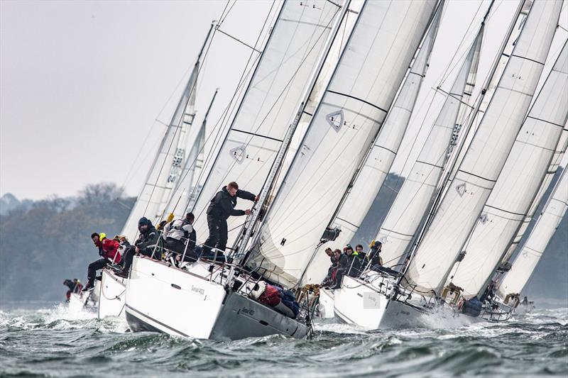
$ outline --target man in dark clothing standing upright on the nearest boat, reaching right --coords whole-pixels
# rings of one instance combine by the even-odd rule
[[[226,220],[229,216],[249,215],[251,211],[236,210],[236,198],[248,199],[249,201],[258,201],[255,196],[248,191],[240,190],[236,182],[229,182],[226,187],[218,191],[211,200],[207,208],[207,226],[209,227],[209,237],[203,244],[203,255],[205,257],[211,255],[211,249],[217,248],[224,251],[228,236]],[[223,253],[219,253],[223,257]]]

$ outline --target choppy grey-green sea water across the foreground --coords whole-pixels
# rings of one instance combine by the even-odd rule
[[[313,340],[215,342],[131,333],[124,320],[65,305],[19,307],[0,311],[2,377],[568,375],[568,309],[457,329],[364,332],[326,321]]]

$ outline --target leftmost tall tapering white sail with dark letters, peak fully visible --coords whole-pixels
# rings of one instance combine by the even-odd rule
[[[148,175],[136,203],[126,219],[121,235],[134,238],[138,233],[138,219],[143,216],[156,223],[163,215],[165,205],[170,198],[171,191],[178,179],[179,169],[185,160],[185,141],[187,132],[195,118],[195,88],[197,76],[200,72],[201,55],[209,40],[211,28],[205,38],[197,61],[190,74],[178,106],[176,106],[172,119],[168,124],[162,138],[158,152],[148,170]]]

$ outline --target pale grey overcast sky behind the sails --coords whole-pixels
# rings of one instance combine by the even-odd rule
[[[180,83],[187,78],[211,21],[226,4],[1,0],[0,195],[70,196],[96,182],[116,182],[136,195],[164,131],[155,119],[169,121]],[[231,0],[229,7],[232,4]],[[479,80],[517,4],[496,1]],[[237,1],[222,30],[252,45],[271,5],[272,1]],[[469,48],[487,6],[488,0],[448,2],[410,133],[403,141],[407,154],[413,133],[427,132],[427,122],[420,128],[422,120],[435,116],[441,103],[436,96],[426,112],[434,96],[432,87]],[[565,9],[566,4],[560,24],[567,28]],[[550,57],[556,57],[567,35],[559,29]],[[250,53],[216,33],[197,87],[197,122],[217,87],[218,101],[208,126],[221,116]],[[446,87],[453,79],[449,72]],[[403,162],[397,164],[403,170]]]

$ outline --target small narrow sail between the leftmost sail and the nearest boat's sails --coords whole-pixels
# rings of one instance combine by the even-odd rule
[[[175,184],[175,189],[170,196],[168,204],[165,206],[165,214],[173,213],[174,218],[183,218],[185,216],[185,211],[190,207],[192,199],[195,199],[198,194],[198,187],[195,186],[195,172],[202,168],[203,165],[203,155],[204,155],[204,144],[205,144],[205,129],[207,126],[207,117],[209,116],[209,111],[213,106],[215,97],[217,96],[217,89],[213,95],[213,99],[209,104],[209,108],[205,113],[203,122],[197,133],[193,135],[190,140],[192,140],[190,152],[185,159],[182,171],[180,172],[180,178]]]

